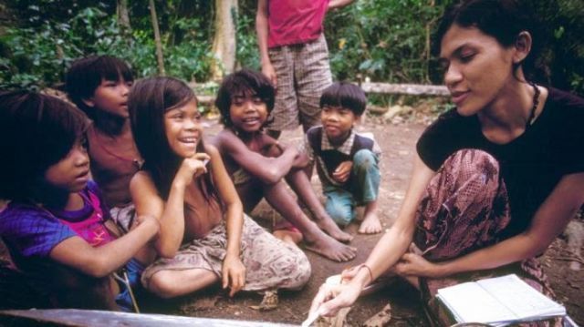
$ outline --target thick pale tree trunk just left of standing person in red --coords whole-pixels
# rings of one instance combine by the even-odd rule
[[[220,80],[235,69],[235,21],[237,0],[215,0],[214,63],[212,76]]]

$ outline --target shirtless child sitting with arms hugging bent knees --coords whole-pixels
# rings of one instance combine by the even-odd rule
[[[247,69],[225,77],[215,105],[221,112],[224,130],[213,142],[222,154],[245,211],[250,212],[266,198],[302,233],[308,250],[334,261],[352,260],[356,250],[339,242],[349,241],[351,236],[330,219],[302,170],[308,164],[306,156],[295,147],[279,144],[264,130],[274,107],[274,87],[269,80]],[[307,205],[317,223],[300,209],[283,178]]]

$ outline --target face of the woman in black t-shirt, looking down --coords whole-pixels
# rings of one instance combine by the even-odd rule
[[[501,46],[476,27],[451,26],[442,39],[440,60],[444,84],[463,116],[489,107],[515,78],[516,47]]]

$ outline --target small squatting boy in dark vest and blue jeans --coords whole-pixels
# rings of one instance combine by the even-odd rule
[[[320,97],[322,126],[308,129],[305,148],[310,161],[317,163],[330,217],[346,226],[355,220],[355,206],[364,205],[359,232],[372,234],[381,231],[376,212],[381,149],[373,138],[353,129],[366,104],[360,87],[341,82],[326,88]],[[310,176],[312,169],[307,172]]]

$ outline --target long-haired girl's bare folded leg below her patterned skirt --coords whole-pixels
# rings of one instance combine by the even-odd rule
[[[163,299],[199,291],[219,281],[213,271],[188,269],[183,271],[158,271],[148,282],[148,290]]]

